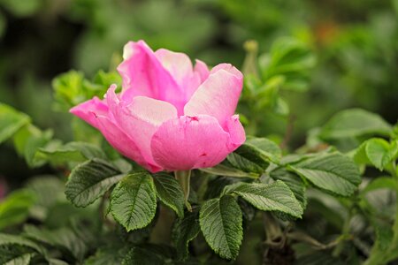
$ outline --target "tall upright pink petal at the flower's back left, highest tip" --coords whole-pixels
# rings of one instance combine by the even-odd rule
[[[171,102],[182,112],[186,102],[183,91],[145,42],[128,42],[123,57],[125,60],[118,67],[123,79],[123,99],[149,96]]]

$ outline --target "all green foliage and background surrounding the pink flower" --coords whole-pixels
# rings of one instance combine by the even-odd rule
[[[59,32],[76,40],[52,33],[52,44],[75,47],[54,70],[40,67],[49,49],[41,42],[27,41],[37,52],[18,46],[29,64],[13,42],[0,52],[0,198],[10,186],[0,263],[398,260],[397,1],[25,2],[0,0],[4,40],[15,19],[36,16],[62,16]],[[120,83],[115,69],[132,34],[210,64],[243,62],[238,111],[251,136],[217,166],[192,171],[188,203],[171,172],[143,170],[66,114]],[[71,66],[81,72],[65,72]],[[65,72],[52,81],[53,99],[41,72]]]

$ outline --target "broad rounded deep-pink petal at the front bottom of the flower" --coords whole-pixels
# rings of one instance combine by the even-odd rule
[[[234,122],[231,127],[236,127]],[[241,137],[238,134],[233,140]],[[236,144],[215,117],[201,115],[166,121],[154,134],[151,148],[154,160],[165,170],[190,170],[222,162]]]

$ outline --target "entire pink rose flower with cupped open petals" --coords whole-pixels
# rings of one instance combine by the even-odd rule
[[[193,67],[187,55],[143,41],[128,42],[123,57],[122,92],[112,85],[103,100],[70,110],[122,155],[152,172],[191,170],[217,165],[245,141],[233,115],[243,76],[233,65]]]

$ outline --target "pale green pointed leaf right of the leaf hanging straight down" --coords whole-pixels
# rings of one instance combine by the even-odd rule
[[[263,211],[279,211],[300,218],[302,206],[295,194],[280,180],[272,184],[240,183],[231,187],[228,193],[236,193],[254,207]]]

